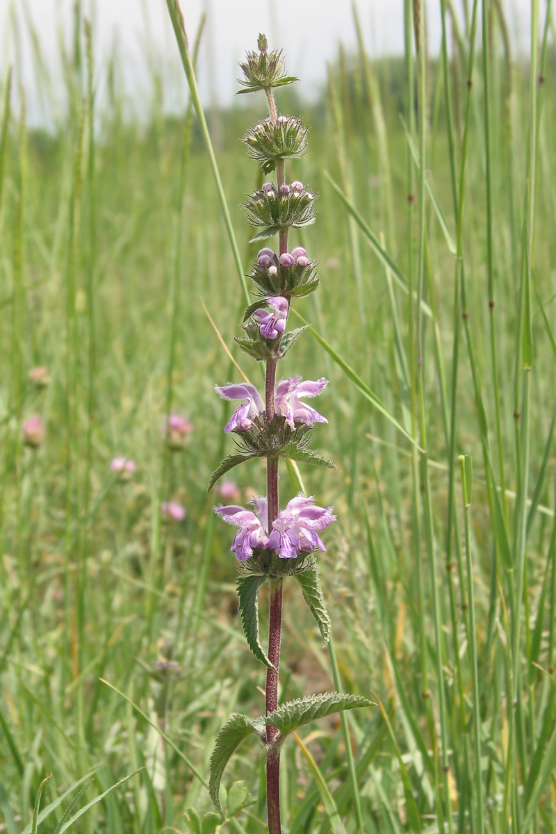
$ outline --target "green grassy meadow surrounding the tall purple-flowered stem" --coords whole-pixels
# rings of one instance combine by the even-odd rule
[[[382,705],[347,713],[356,779],[335,718],[288,741],[288,834],[354,834],[358,817],[367,834],[556,830],[554,24],[532,0],[519,63],[503,3],[469,2],[454,31],[447,2],[449,56],[428,59],[420,5],[406,0],[405,59],[340,51],[321,103],[277,97],[311,128],[288,178],[320,195],[292,236],[319,263],[321,289],[297,304],[313,332],[283,375],[330,380],[315,440],[337,469],[300,469],[338,515],[318,555],[333,649],[287,585],[280,699],[338,688],[337,663],[343,691]],[[1,79],[0,831],[32,830],[49,774],[40,834],[196,831],[184,814],[213,811],[219,728],[264,706],[206,492],[233,450],[214,384],[239,374],[201,299],[243,372],[263,374],[233,347],[243,296],[193,112],[169,118],[155,97],[139,126],[116,83],[93,113],[118,68],[93,65],[77,23],[55,132],[28,129],[17,73]],[[265,108],[249,98],[208,119],[246,274],[241,203],[261,174],[238,137]],[[172,412],[193,425],[179,452]],[[38,448],[23,443],[33,414]],[[467,506],[458,455],[473,459]],[[240,501],[264,490],[261,461],[231,476]],[[469,494],[468,459],[466,480]],[[285,467],[280,483],[284,502]],[[185,520],[161,515],[169,500]],[[222,830],[262,834],[249,741],[234,783]]]

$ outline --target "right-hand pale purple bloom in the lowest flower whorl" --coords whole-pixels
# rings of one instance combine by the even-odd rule
[[[312,495],[305,498],[299,493],[274,521],[267,546],[278,550],[281,559],[294,559],[299,552],[313,553],[317,548],[326,550],[318,533],[335,519],[333,507],[315,506]]]

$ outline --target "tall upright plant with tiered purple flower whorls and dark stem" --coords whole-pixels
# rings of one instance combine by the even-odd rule
[[[248,155],[258,160],[263,173],[276,171],[276,183],[264,183],[244,208],[248,221],[261,231],[253,240],[278,234],[278,252],[264,248],[258,253],[250,278],[257,300],[243,316],[243,334],[236,343],[245,353],[266,365],[264,398],[249,382],[228,382],[216,386],[223,399],[239,401],[225,426],[236,437],[238,453],[228,455],[213,472],[208,489],[233,467],[255,457],[267,460],[267,495],[251,501],[253,509],[220,505],[218,516],[238,528],[232,551],[238,559],[239,612],[248,645],[258,661],[267,666],[265,715],[254,721],[235,715],[218,733],[210,763],[209,791],[220,810],[219,788],[224,768],[238,745],[251,733],[263,743],[266,756],[269,834],[279,834],[279,757],[288,733],[332,712],[367,706],[366,698],[339,692],[309,696],[278,706],[278,666],[282,624],[283,580],[298,580],[309,610],[318,623],[324,643],[328,642],[330,620],[324,604],[314,553],[325,550],[320,533],[335,519],[332,507],[315,504],[313,496],[297,495],[279,509],[278,461],[280,458],[333,467],[333,462],[309,448],[315,423],[328,423],[323,414],[305,402],[323,391],[326,379],[303,380],[301,376],[281,379],[276,384],[280,359],[303,333],[304,328],[287,331],[293,298],[303,298],[318,289],[317,264],[301,246],[288,251],[290,229],[313,223],[315,195],[303,183],[285,181],[285,160],[305,153],[307,128],[300,118],[278,116],[273,88],[292,83],[285,75],[281,52],[268,51],[264,35],[258,38],[258,54],[248,53],[240,64],[245,80],[240,92],[263,90],[269,117],[250,128],[243,137]],[[270,586],[268,653],[258,631],[258,592]]]

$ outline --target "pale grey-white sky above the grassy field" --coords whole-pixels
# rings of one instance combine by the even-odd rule
[[[463,8],[464,0],[454,0]],[[470,0],[468,0],[470,3]],[[541,0],[541,16],[546,0]],[[40,120],[40,103],[33,51],[25,8],[33,20],[45,63],[59,81],[58,32],[62,26],[66,42],[71,40],[74,0],[0,0],[0,72],[14,63],[27,90],[28,112]],[[164,78],[164,101],[168,109],[179,109],[185,99],[185,82],[178,65],[178,51],[168,20],[165,0],[82,0],[83,13],[93,21],[94,51],[99,67],[105,67],[114,48],[123,67],[123,86],[136,103],[148,85],[147,56],[152,56]],[[363,37],[372,55],[403,52],[403,0],[357,0]],[[527,48],[530,0],[503,0],[515,43]],[[203,10],[208,25],[199,57],[198,78],[204,103],[227,105],[238,88],[238,59],[255,48],[259,32],[268,36],[271,47],[280,46],[287,57],[288,72],[300,78],[299,92],[318,95],[326,75],[327,61],[338,53],[341,41],[355,47],[355,30],[350,0],[181,0],[190,41]],[[13,11],[17,9],[19,37],[14,37]],[[426,0],[431,53],[438,52],[440,19],[438,0]],[[19,47],[16,44],[19,43]],[[114,45],[116,44],[116,46]],[[102,73],[98,86],[103,88]]]

